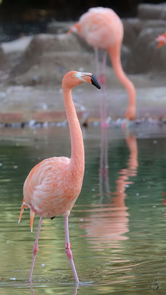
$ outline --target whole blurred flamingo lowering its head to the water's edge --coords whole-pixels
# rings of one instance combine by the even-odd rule
[[[121,45],[123,40],[123,24],[118,15],[110,8],[95,7],[84,13],[68,33],[74,32],[86,40],[95,49],[96,72],[99,78],[98,49],[104,49],[101,81],[105,92],[105,68],[107,53],[116,76],[128,91],[129,106],[125,118],[133,120],[136,115],[136,90],[133,83],[126,77],[121,65]],[[103,95],[101,121],[106,125],[106,96]]]

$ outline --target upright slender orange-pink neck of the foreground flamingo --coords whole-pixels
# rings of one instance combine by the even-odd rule
[[[70,136],[71,136],[71,162],[77,173],[84,174],[84,144],[82,138],[82,131],[79,120],[77,118],[76,110],[73,104],[71,89],[63,87],[64,105],[68,119]]]

